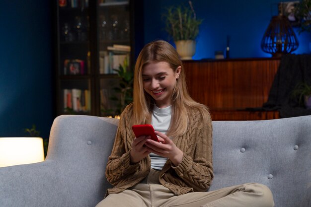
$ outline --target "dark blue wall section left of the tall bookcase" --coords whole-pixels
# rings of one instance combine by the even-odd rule
[[[53,121],[52,22],[46,0],[0,2],[0,137],[48,138]]]

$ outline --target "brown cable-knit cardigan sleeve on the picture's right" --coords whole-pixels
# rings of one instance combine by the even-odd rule
[[[207,119],[202,119],[202,116],[206,116]],[[206,191],[214,177],[212,120],[208,112],[202,116],[194,117],[187,134],[186,140],[193,145],[191,151],[184,149],[182,162],[178,166],[172,167],[180,179],[194,191]],[[204,122],[204,120],[206,121]]]

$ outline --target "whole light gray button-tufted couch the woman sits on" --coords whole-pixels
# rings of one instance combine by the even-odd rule
[[[110,187],[105,166],[118,120],[55,119],[44,162],[0,168],[0,207],[94,207]],[[267,185],[275,207],[311,207],[311,116],[213,122],[210,190]]]

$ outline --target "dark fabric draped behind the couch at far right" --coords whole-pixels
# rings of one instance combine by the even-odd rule
[[[262,108],[252,110],[279,111],[281,118],[311,115],[311,109],[306,109],[299,103],[299,97],[292,95],[301,82],[311,84],[311,55],[283,55],[268,101]]]

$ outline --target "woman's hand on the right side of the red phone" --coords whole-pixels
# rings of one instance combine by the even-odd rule
[[[167,157],[177,166],[182,161],[183,152],[166,135],[157,131],[155,133],[159,137],[160,142],[147,139],[145,144],[148,147],[148,151],[162,157]]]

